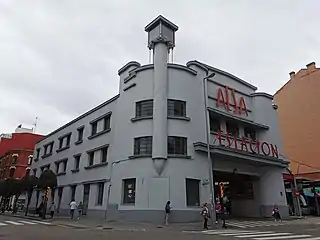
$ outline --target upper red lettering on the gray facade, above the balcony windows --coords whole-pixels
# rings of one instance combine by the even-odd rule
[[[229,94],[231,91],[231,94]],[[235,114],[246,114],[248,116],[248,110],[243,97],[239,99],[236,98],[236,93],[234,89],[229,89],[225,86],[224,91],[221,88],[218,89],[217,93],[217,107],[223,106],[228,112],[232,111]]]

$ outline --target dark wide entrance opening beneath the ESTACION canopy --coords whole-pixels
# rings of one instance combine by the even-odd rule
[[[226,205],[230,216],[249,216],[255,208],[254,184],[258,177],[235,172],[214,172],[216,200]],[[246,210],[247,209],[247,210]]]

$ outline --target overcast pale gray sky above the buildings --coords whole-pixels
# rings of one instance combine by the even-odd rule
[[[158,2],[158,3],[156,3]],[[47,134],[118,93],[117,71],[148,63],[144,27],[179,26],[176,63],[197,59],[273,94],[320,66],[320,1],[0,0],[0,133]]]

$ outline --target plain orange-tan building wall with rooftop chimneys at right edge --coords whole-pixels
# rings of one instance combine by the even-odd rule
[[[297,73],[291,72],[290,80],[274,95],[283,152],[290,161],[290,169],[295,175],[311,180],[320,179],[319,95],[320,69],[314,62]]]

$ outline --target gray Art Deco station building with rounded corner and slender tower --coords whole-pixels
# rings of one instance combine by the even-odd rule
[[[198,61],[170,63],[178,27],[162,16],[145,30],[152,64],[127,63],[117,96],[36,145],[32,172],[57,173],[59,214],[74,198],[88,217],[162,222],[170,200],[171,221],[194,221],[214,192],[233,216],[274,204],[287,215],[273,97]]]

